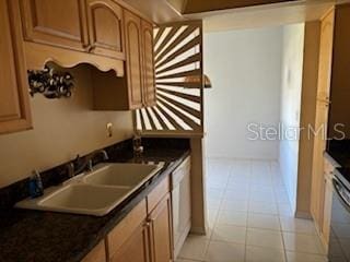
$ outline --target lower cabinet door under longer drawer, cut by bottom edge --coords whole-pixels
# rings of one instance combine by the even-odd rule
[[[148,227],[140,226],[109,260],[110,262],[149,262]]]

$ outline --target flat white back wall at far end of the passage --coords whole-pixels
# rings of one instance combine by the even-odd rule
[[[248,141],[249,122],[280,119],[282,27],[205,34],[208,157],[278,158],[278,141]]]

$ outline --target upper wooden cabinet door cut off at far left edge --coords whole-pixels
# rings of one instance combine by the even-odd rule
[[[0,133],[31,128],[18,2],[0,0]]]

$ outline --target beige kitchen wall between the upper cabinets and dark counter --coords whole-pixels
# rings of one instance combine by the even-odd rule
[[[70,71],[75,87],[69,99],[31,98],[33,130],[0,135],[0,188],[132,136],[130,111],[94,111],[90,68]],[[112,122],[114,135],[107,136]]]

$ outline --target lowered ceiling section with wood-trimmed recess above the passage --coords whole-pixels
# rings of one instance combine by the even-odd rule
[[[276,26],[319,20],[350,0],[124,0],[158,24],[202,20],[205,32]]]

